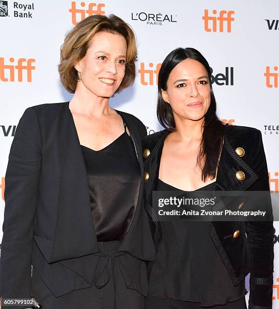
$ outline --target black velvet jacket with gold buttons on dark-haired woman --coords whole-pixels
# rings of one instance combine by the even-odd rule
[[[152,190],[156,190],[163,142],[170,132],[163,130],[143,139],[145,169],[145,208],[152,220],[155,248],[160,239],[160,226],[152,210]],[[236,148],[242,147],[245,155],[240,157]],[[245,174],[244,180],[236,177],[236,172]],[[225,126],[216,182],[224,190],[236,191],[224,204],[216,204],[214,210],[221,210],[226,204],[237,210],[241,203],[241,191],[269,191],[269,179],[259,130],[240,126]],[[270,195],[265,208],[271,210]],[[271,215],[272,220],[272,215]],[[239,237],[234,238],[239,230]],[[237,232],[239,233],[239,232]],[[224,262],[234,285],[240,283],[250,272],[249,309],[271,308],[273,271],[273,225],[272,222],[210,222],[209,234]],[[247,234],[247,238],[246,235]],[[236,234],[235,234],[236,235]],[[152,263],[149,264],[150,272]]]

